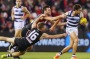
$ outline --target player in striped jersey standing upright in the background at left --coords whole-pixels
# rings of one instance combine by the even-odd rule
[[[25,26],[25,19],[30,17],[30,12],[26,7],[22,6],[22,0],[16,0],[16,5],[12,8],[11,17],[14,21],[15,37],[21,37],[22,28]],[[12,44],[9,46],[11,51]],[[19,57],[15,57],[18,58]]]

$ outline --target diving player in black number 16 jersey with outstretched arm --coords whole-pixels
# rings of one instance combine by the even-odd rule
[[[28,32],[28,35],[26,35],[26,37],[22,37],[22,38],[9,38],[9,37],[2,37],[0,36],[0,41],[7,41],[10,43],[15,44],[16,46],[18,46],[18,50],[19,52],[13,52],[7,55],[1,55],[1,58],[7,58],[7,57],[14,57],[14,56],[20,56],[23,55],[26,51],[26,49],[35,44],[36,42],[38,42],[40,39],[42,38],[59,38],[59,37],[63,37],[66,36],[66,34],[56,34],[56,35],[48,35],[46,33],[44,33],[44,31],[47,29],[46,25],[43,22],[37,22],[38,20],[41,20],[41,18],[43,18],[45,15],[42,14],[40,15],[37,20],[34,21],[34,23],[32,24],[32,29],[30,32]],[[50,29],[54,29],[55,26],[57,25],[59,20],[57,20]]]

